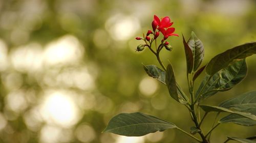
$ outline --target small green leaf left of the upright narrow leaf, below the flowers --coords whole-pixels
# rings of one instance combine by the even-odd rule
[[[144,67],[144,70],[146,71],[146,73],[148,74],[148,76],[156,78],[163,84],[166,84],[165,83],[165,72],[162,69],[158,68],[155,65],[147,65],[147,66],[143,65],[143,67]]]

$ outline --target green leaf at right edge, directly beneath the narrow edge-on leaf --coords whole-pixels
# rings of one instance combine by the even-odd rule
[[[256,115],[256,108],[246,110],[245,112],[250,112],[253,115]],[[251,119],[245,118],[243,116],[237,115],[237,114],[230,114],[224,118],[222,118],[220,123],[234,123],[242,126],[254,126],[256,125],[256,121],[253,121]]]

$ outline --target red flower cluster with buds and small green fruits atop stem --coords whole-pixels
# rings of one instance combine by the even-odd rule
[[[172,50],[172,47],[169,45],[167,41],[165,41],[169,36],[179,36],[178,34],[174,34],[175,28],[171,27],[174,22],[170,22],[170,18],[168,16],[159,19],[156,15],[154,15],[154,20],[152,21],[152,28],[153,32],[151,30],[148,30],[146,33],[146,37],[143,34],[143,38],[136,37],[136,40],[144,40],[146,44],[138,45],[137,51],[142,51],[145,46],[149,47],[151,49],[151,45],[153,41],[155,41],[158,37],[160,32],[163,35],[163,39],[161,40],[161,44],[158,46],[157,50],[161,50],[162,47],[165,47],[167,50]],[[153,37],[150,37],[150,35],[153,35]],[[164,43],[165,41],[165,43]],[[149,42],[150,44],[148,44]],[[156,41],[155,41],[156,42]],[[151,49],[152,50],[152,49]],[[159,50],[159,51],[160,51]]]

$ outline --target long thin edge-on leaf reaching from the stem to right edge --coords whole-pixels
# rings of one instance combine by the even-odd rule
[[[219,107],[219,106],[209,106],[209,105],[200,105],[200,107],[205,111],[205,112],[210,112],[210,111],[216,111],[216,112],[229,112],[229,113],[234,113],[246,118],[249,118],[253,121],[256,121],[256,116],[252,115],[249,112],[241,112],[241,111],[233,111],[229,110],[227,108]]]

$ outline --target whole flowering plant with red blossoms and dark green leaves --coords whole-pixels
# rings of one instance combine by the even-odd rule
[[[256,53],[256,42],[245,43],[233,48],[230,48],[212,58],[207,65],[201,66],[204,59],[204,46],[194,32],[191,33],[188,41],[183,37],[183,46],[186,55],[186,77],[189,89],[187,96],[179,84],[176,82],[174,69],[169,63],[167,67],[162,63],[159,53],[165,49],[172,51],[172,46],[166,41],[170,36],[179,36],[174,34],[175,28],[171,27],[173,22],[169,17],[164,17],[161,20],[155,15],[152,22],[152,29],[148,30],[143,38],[137,37],[137,40],[143,40],[144,44],[137,46],[137,51],[142,51],[146,48],[150,49],[161,65],[162,69],[155,65],[146,65],[144,70],[146,73],[165,84],[170,97],[175,99],[181,105],[184,105],[191,116],[191,120],[195,126],[190,127],[190,132],[179,128],[174,123],[156,118],[154,116],[145,115],[141,112],[120,113],[113,117],[108,126],[103,132],[112,132],[125,136],[142,136],[156,131],[164,131],[174,128],[184,132],[186,135],[194,138],[198,142],[210,142],[212,131],[220,124],[234,123],[242,126],[256,125],[256,91],[251,91],[233,97],[232,99],[223,101],[218,106],[201,105],[202,101],[214,96],[218,92],[230,90],[240,83],[247,75],[247,65],[245,58]],[[161,43],[157,45],[159,33],[162,33],[163,38]],[[150,37],[152,36],[152,37]],[[156,49],[154,50],[153,43]],[[201,67],[200,67],[201,66]],[[206,72],[198,89],[194,88],[194,83],[199,75]],[[204,110],[203,116],[200,113],[200,108]],[[209,112],[217,112],[216,119],[213,121],[213,126],[207,132],[202,130],[203,121]],[[218,119],[221,112],[228,113],[227,116]],[[202,118],[201,118],[202,116]],[[218,122],[216,122],[218,119]],[[198,134],[198,135],[197,135]],[[224,142],[236,140],[238,142],[255,142],[256,136],[247,138],[238,138],[227,136]]]

